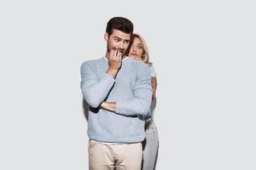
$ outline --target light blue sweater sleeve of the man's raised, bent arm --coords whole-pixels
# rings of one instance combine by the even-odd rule
[[[114,78],[106,73],[101,79],[87,62],[81,66],[81,89],[86,102],[93,108],[98,107],[113,87]]]

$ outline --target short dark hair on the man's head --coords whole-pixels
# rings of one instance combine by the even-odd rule
[[[108,25],[106,28],[106,32],[110,36],[112,34],[113,29],[123,31],[125,33],[133,33],[133,24],[131,20],[125,19],[124,17],[113,17],[108,20]]]

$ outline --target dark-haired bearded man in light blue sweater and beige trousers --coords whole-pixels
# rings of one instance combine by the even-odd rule
[[[90,105],[90,170],[141,169],[144,120],[152,88],[148,65],[125,56],[133,32],[130,20],[108,21],[105,57],[81,66],[81,88]]]

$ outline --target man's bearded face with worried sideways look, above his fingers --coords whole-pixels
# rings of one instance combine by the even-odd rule
[[[109,36],[106,32],[104,38],[107,41],[108,53],[112,48],[115,48],[119,49],[124,56],[130,43],[131,34],[113,29],[112,34]]]

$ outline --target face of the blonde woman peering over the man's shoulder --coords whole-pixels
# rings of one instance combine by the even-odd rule
[[[138,37],[135,37],[133,42],[131,43],[129,57],[133,59],[142,59],[143,53],[143,42]]]

